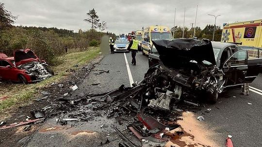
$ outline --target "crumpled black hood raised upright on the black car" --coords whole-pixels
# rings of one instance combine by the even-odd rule
[[[202,62],[209,61],[216,65],[211,41],[203,39],[174,39],[174,40],[154,40],[159,58],[165,66],[175,67],[181,63],[196,60]]]

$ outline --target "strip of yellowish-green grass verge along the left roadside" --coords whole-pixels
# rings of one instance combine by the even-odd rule
[[[8,99],[0,101],[0,111],[30,102],[34,97],[38,96],[41,88],[61,81],[70,74],[66,72],[67,69],[80,68],[81,65],[85,65],[90,60],[98,57],[99,51],[98,47],[90,47],[88,50],[81,52],[69,51],[68,54],[58,57],[60,60],[59,65],[52,67],[56,75],[41,82],[34,84],[3,83],[0,87],[0,97],[8,96]],[[76,64],[79,64],[79,67],[73,67]]]

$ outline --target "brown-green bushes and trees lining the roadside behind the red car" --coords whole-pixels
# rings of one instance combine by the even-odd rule
[[[0,2],[0,53],[13,56],[13,51],[17,49],[30,48],[49,64],[59,63],[57,57],[66,53],[65,47],[82,51],[90,45],[98,45],[106,34],[115,37],[114,33],[102,32],[107,28],[104,21],[98,21],[93,29],[74,32],[57,28],[13,26],[16,19],[17,16],[12,15]]]

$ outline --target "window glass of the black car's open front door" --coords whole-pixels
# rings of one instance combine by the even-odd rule
[[[239,51],[229,58],[225,66],[231,65],[245,65],[246,62],[246,50]]]

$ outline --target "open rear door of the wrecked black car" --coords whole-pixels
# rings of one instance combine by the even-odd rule
[[[237,48],[238,50],[240,50],[240,48],[247,50],[248,70],[245,81],[246,83],[251,83],[262,69],[262,57],[259,57],[259,52],[261,52],[262,49],[253,46],[237,46]]]

